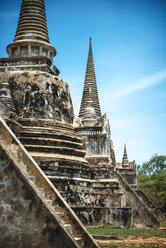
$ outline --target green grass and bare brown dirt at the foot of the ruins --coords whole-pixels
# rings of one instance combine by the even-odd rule
[[[125,229],[98,226],[87,229],[91,234],[110,237],[102,240],[97,239],[101,248],[165,248],[162,238],[166,238],[166,221],[161,222],[161,227],[162,229]],[[115,238],[112,239],[112,237]],[[148,240],[148,238],[150,239]]]

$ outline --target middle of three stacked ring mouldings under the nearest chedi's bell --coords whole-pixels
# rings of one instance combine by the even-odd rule
[[[48,131],[37,131],[34,129],[31,130],[21,130],[20,131],[20,138],[21,137],[41,137],[41,138],[55,138],[55,139],[60,139],[60,140],[68,140],[68,141],[73,141],[76,143],[81,143],[81,139],[77,138],[74,135],[69,135],[69,134],[64,134],[63,132],[48,132]]]

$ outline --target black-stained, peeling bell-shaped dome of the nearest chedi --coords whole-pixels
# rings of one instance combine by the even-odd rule
[[[8,72],[11,93],[19,117],[54,119],[72,124],[73,105],[68,84],[45,72]],[[3,73],[0,74],[0,84]]]

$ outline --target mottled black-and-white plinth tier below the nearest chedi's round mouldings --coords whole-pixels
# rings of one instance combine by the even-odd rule
[[[49,176],[64,199],[74,207],[116,208],[121,194],[116,180],[88,180]]]

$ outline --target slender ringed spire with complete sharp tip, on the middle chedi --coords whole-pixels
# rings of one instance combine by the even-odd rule
[[[89,42],[88,61],[86,67],[84,90],[82,95],[79,117],[85,117],[85,112],[86,112],[85,109],[88,106],[89,102],[91,102],[92,107],[95,110],[96,118],[100,117],[101,111],[100,111],[100,104],[99,104],[99,98],[97,92],[91,38]]]

